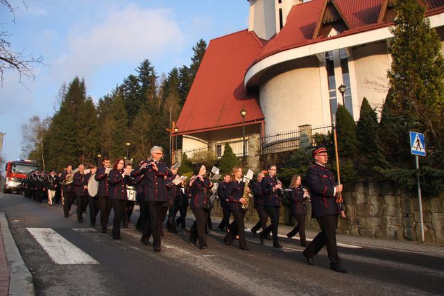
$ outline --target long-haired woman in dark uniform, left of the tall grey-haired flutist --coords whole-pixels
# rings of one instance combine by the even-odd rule
[[[114,210],[114,220],[112,223],[112,238],[120,240],[120,225],[125,215],[125,206],[128,202],[126,194],[126,185],[129,182],[130,174],[123,167],[125,161],[118,158],[110,171],[110,202]]]

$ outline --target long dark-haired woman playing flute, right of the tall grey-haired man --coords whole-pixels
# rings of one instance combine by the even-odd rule
[[[189,207],[193,211],[194,224],[189,229],[189,243],[194,245],[199,240],[200,250],[208,250],[207,239],[205,238],[205,224],[208,217],[207,190],[212,188],[213,184],[205,176],[207,168],[203,164],[194,166],[193,177],[189,180]]]

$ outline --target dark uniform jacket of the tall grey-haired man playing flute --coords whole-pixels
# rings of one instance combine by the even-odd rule
[[[148,162],[144,160],[141,166]],[[144,175],[144,191],[146,202],[166,202],[168,201],[167,186],[165,184],[165,176],[168,175],[167,164],[163,162],[156,162],[157,172],[153,170],[153,166],[148,165],[142,170],[138,168],[131,172],[131,177],[137,177],[138,175]]]

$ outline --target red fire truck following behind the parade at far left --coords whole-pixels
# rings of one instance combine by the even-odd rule
[[[19,193],[23,190],[22,181],[28,173],[39,168],[34,160],[19,159],[6,163],[4,193]]]

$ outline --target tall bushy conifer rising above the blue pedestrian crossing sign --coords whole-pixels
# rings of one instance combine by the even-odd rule
[[[441,38],[418,0],[395,3],[395,26],[391,28],[392,57],[388,72],[394,116],[407,130],[425,132],[432,150],[443,148],[444,60]],[[400,137],[408,137],[402,134]],[[398,147],[394,147],[398,148]]]

